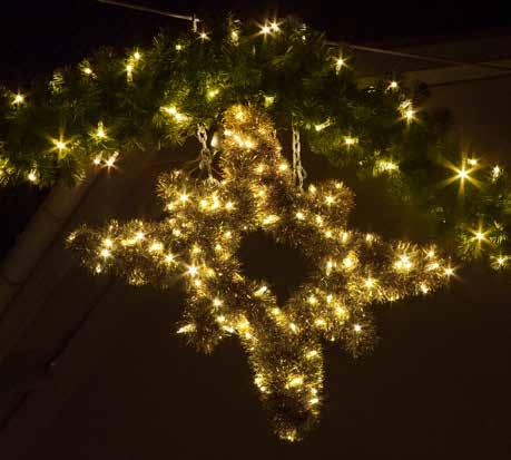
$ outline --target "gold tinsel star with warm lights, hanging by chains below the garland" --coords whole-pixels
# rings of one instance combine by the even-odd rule
[[[276,433],[297,440],[322,407],[322,341],[340,341],[361,355],[375,339],[370,305],[429,294],[453,270],[434,247],[350,231],[353,194],[342,183],[295,187],[274,126],[261,111],[228,109],[220,148],[218,182],[181,172],[160,177],[163,222],[112,221],[102,229],[82,227],[68,241],[94,273],[163,290],[185,280],[177,332],[205,352],[237,336]],[[314,266],[285,305],[266,283],[243,274],[237,251],[255,231],[302,251]]]

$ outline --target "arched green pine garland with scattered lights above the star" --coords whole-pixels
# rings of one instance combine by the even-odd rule
[[[462,257],[510,265],[502,167],[463,158],[449,140],[449,119],[417,109],[428,96],[422,87],[389,78],[363,85],[354,62],[293,20],[242,27],[229,19],[178,39],[160,35],[125,56],[101,50],[56,71],[49,85],[0,90],[0,182],[75,184],[91,163],[110,166],[134,145],[179,144],[197,126],[213,133],[227,107],[249,104],[281,135],[297,126],[332,164],[386,176],[389,189],[423,209]]]

